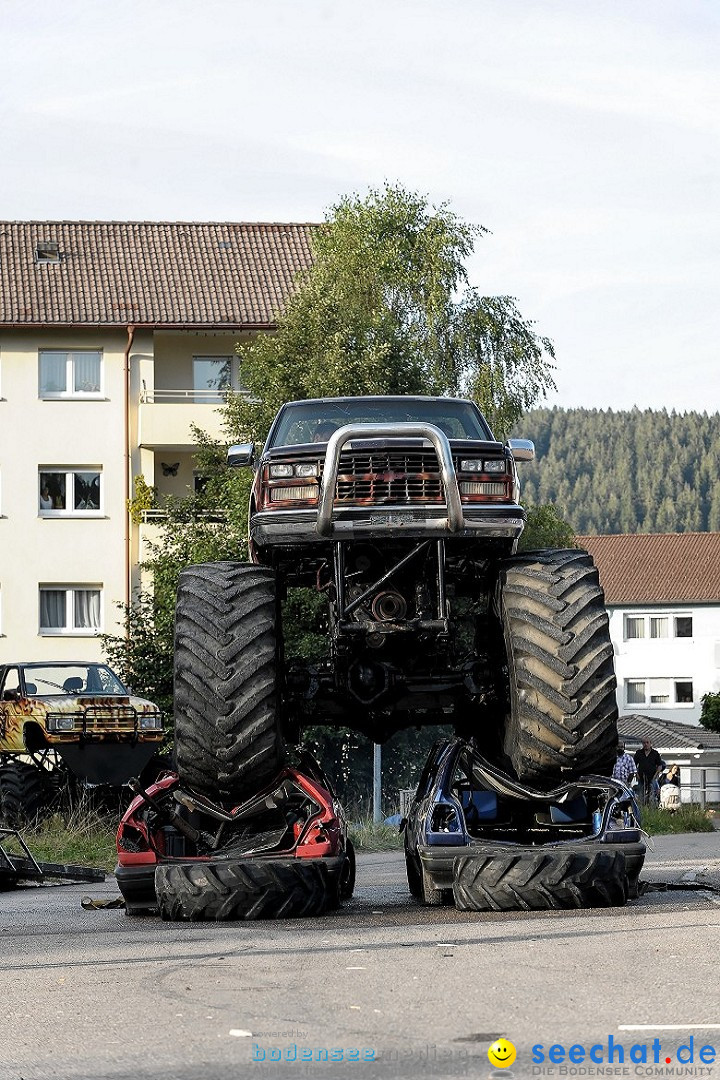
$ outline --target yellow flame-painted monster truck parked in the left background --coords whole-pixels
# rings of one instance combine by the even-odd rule
[[[37,818],[67,780],[118,787],[160,750],[163,725],[105,664],[0,665],[0,820]]]

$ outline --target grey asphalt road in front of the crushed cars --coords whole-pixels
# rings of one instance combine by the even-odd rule
[[[656,838],[642,876],[720,886],[720,833]],[[313,920],[83,910],[112,878],[1,893],[0,1080],[720,1077],[699,1056],[720,1062],[720,892],[687,885],[610,910],[465,914],[411,901],[392,853],[362,856],[353,901]],[[517,1059],[493,1070],[500,1036]]]

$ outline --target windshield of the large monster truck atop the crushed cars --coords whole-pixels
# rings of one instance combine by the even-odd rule
[[[326,443],[348,423],[433,423],[448,438],[492,440],[479,409],[452,397],[343,397],[286,405],[268,438],[271,446]]]

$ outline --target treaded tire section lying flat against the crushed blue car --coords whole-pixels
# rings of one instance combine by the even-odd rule
[[[595,848],[474,848],[453,866],[452,895],[461,912],[535,912],[622,907],[625,858]]]

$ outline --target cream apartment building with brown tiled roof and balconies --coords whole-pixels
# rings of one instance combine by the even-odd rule
[[[272,332],[310,225],[0,222],[0,662],[99,659],[137,584],[133,477],[196,483],[235,346]]]

